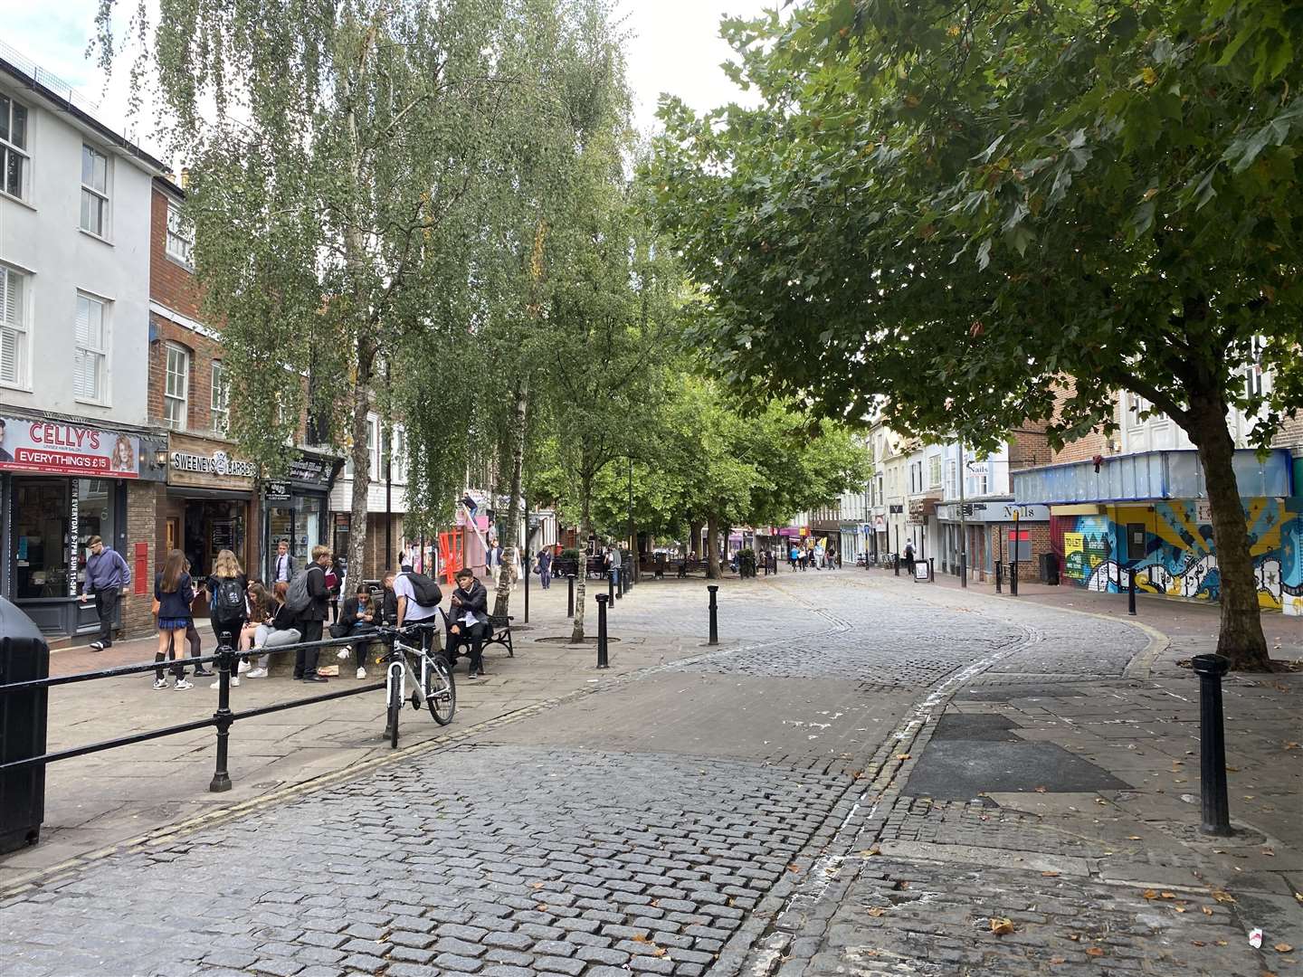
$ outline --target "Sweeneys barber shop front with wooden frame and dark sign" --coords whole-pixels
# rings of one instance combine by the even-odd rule
[[[168,552],[181,550],[190,560],[190,573],[206,577],[218,554],[231,550],[241,568],[250,568],[250,558],[258,552],[258,466],[231,452],[229,442],[169,435],[167,496],[159,507],[159,567]]]

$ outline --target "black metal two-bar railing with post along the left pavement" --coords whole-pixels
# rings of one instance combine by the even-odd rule
[[[418,634],[425,629],[433,629],[433,625],[420,625],[413,624],[404,628],[400,633],[404,636]],[[434,632],[438,634],[438,630]],[[313,706],[319,702],[330,702],[336,698],[347,698],[349,696],[364,696],[369,692],[377,692],[384,689],[387,681],[369,683],[366,685],[352,685],[340,692],[326,692],[321,696],[309,696],[308,698],[291,700],[287,702],[274,702],[270,706],[257,706],[254,709],[242,709],[235,711],[231,709],[231,679],[238,675],[236,671],[240,667],[240,659],[248,655],[280,655],[289,653],[306,651],[310,649],[331,649],[343,647],[348,645],[374,645],[374,644],[387,644],[379,636],[375,634],[353,634],[343,638],[324,638],[322,641],[300,641],[293,645],[278,645],[274,647],[253,647],[248,651],[238,651],[231,645],[231,632],[224,632],[220,637],[222,645],[218,651],[211,655],[199,655],[197,658],[177,658],[175,660],[162,660],[162,662],[149,662],[142,664],[124,664],[115,668],[102,668],[94,672],[78,672],[76,675],[57,675],[47,679],[29,679],[26,681],[16,681],[9,685],[0,684],[0,696],[12,694],[14,692],[34,692],[36,689],[50,689],[57,685],[73,685],[76,683],[95,681],[99,679],[116,679],[124,675],[139,675],[142,672],[151,671],[169,671],[185,664],[199,666],[208,662],[214,662],[218,666],[218,710],[205,719],[194,719],[188,723],[173,723],[172,726],[164,726],[158,729],[147,729],[145,732],[130,733],[128,736],[117,736],[111,740],[100,740],[99,743],[90,743],[81,746],[70,746],[68,749],[55,750],[52,753],[42,753],[36,757],[25,757],[22,759],[12,759],[7,763],[0,763],[0,774],[7,774],[13,770],[23,770],[26,767],[36,765],[55,763],[60,759],[72,759],[73,757],[85,757],[90,753],[102,753],[104,750],[117,749],[119,746],[130,746],[137,743],[145,743],[147,740],[158,740],[164,736],[176,736],[177,733],[192,732],[194,729],[203,729],[205,727],[216,727],[218,737],[218,750],[216,762],[212,772],[212,780],[208,783],[208,789],[212,792],[222,792],[231,789],[231,772],[227,769],[227,757],[231,739],[231,727],[240,719],[253,719],[259,715],[268,715],[271,713],[281,713],[287,709],[300,709],[301,706]]]

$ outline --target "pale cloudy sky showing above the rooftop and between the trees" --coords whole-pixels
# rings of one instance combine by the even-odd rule
[[[775,0],[618,0],[629,33],[629,85],[637,99],[637,122],[642,130],[655,126],[657,98],[668,91],[697,109],[747,100],[719,63],[731,51],[719,39],[719,18],[756,16]],[[158,9],[156,0],[150,8]],[[85,98],[99,103],[95,113],[103,122],[138,139],[143,149],[158,151],[151,137],[150,112],[126,119],[128,51],[119,57],[108,79],[85,57],[94,31],[98,0],[0,0],[0,42],[47,72],[63,78]],[[117,0],[119,10],[136,9],[136,0]],[[117,30],[121,34],[121,23]]]

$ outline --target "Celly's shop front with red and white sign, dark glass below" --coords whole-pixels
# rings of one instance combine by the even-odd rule
[[[163,479],[162,440],[143,430],[106,430],[72,421],[0,417],[0,593],[51,637],[98,628],[94,603],[78,595],[87,541],[102,537],[147,576],[128,539],[130,486]],[[121,607],[119,608],[121,624]]]

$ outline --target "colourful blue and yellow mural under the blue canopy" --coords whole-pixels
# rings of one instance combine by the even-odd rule
[[[1221,593],[1205,503],[1110,505],[1104,516],[1057,516],[1063,576],[1089,590],[1136,588],[1196,601]],[[1303,499],[1244,499],[1244,524],[1264,608],[1303,616]]]

